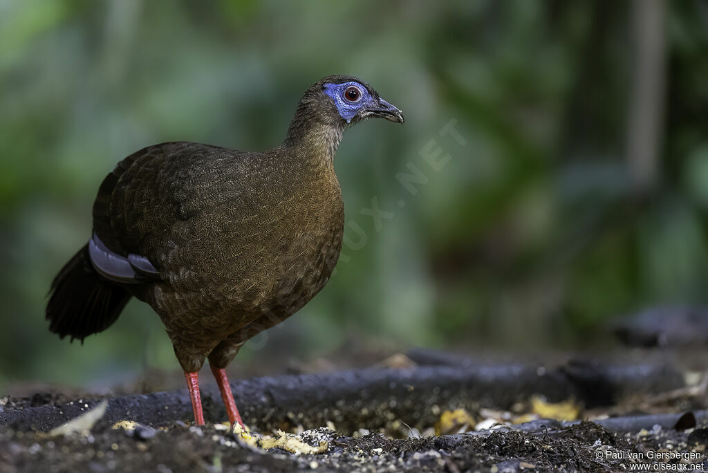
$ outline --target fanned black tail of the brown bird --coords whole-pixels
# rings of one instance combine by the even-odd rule
[[[108,329],[118,319],[130,292],[105,278],[91,266],[89,246],[79,250],[52,282],[47,304],[49,329],[59,337],[81,342]]]

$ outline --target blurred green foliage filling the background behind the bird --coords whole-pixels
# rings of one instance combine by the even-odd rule
[[[47,331],[45,295],[91,232],[99,183],[156,142],[273,147],[326,74],[369,81],[406,125],[347,132],[336,275],[237,363],[367,338],[578,346],[608,318],[704,302],[708,7],[666,8],[658,184],[637,193],[629,3],[0,1],[0,381],[176,368],[139,302],[83,347]],[[464,146],[440,135],[451,119]],[[450,154],[439,171],[430,140]],[[428,178],[416,195],[395,177],[409,164]],[[378,230],[360,212],[372,198],[394,212]]]

